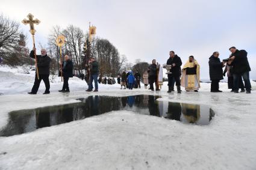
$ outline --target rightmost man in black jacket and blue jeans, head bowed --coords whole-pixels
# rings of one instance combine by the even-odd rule
[[[236,47],[229,48],[231,57],[228,64],[233,66],[234,93],[239,93],[239,79],[242,76],[245,81],[246,93],[251,93],[249,71],[251,71],[246,50],[238,50]]]

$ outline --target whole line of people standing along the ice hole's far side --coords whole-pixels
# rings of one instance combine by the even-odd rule
[[[238,50],[236,47],[230,47],[229,51],[231,52],[229,58],[223,59],[223,61],[220,61],[219,59],[219,52],[213,52],[213,55],[209,58],[208,64],[211,80],[211,93],[222,92],[219,90],[219,82],[225,75],[228,76],[228,88],[231,89],[231,92],[239,93],[240,88],[240,92],[246,91],[246,93],[251,93],[251,82],[249,79],[249,71],[251,71],[251,68],[249,66],[246,50]],[[31,58],[35,58],[35,52],[35,48],[31,50]],[[45,49],[41,50],[41,55],[36,56],[36,67],[38,68],[39,76],[37,77],[36,74],[33,88],[28,94],[37,94],[41,80],[43,80],[46,87],[45,93],[43,94],[49,94],[49,65],[51,58],[49,58]],[[63,76],[63,88],[59,91],[61,93],[69,93],[69,78],[73,77],[73,63],[69,56],[65,55],[64,61],[60,64],[60,73]],[[181,86],[184,87],[186,91],[198,92],[200,88],[200,65],[192,55],[189,56],[189,59],[184,64],[183,68],[181,68],[182,64],[183,62],[181,61],[180,56],[176,55],[175,52],[171,50],[166,62],[166,65],[169,68],[167,71],[167,93],[175,91],[175,84],[178,93],[181,93]],[[99,63],[94,57],[89,59],[89,64],[86,65],[86,67],[88,68],[87,70],[89,70],[89,88],[86,91],[93,91],[93,82],[95,87],[94,92],[98,91],[98,83],[116,83],[114,78],[107,79],[107,77],[99,77]],[[223,71],[224,67],[225,69]],[[122,74],[117,76],[117,83],[120,84],[121,89],[128,88],[129,90],[133,90],[133,88],[140,88],[141,80],[143,80],[145,88],[148,88],[149,85],[149,90],[154,91],[155,83],[155,90],[160,90],[161,85],[163,85],[163,70],[161,65],[156,63],[155,59],[152,60],[152,64],[149,65],[148,69],[143,72],[143,76],[141,76],[137,70],[134,74],[133,71],[128,71],[128,73],[123,71]]]

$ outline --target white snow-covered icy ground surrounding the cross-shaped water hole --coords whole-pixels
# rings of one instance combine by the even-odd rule
[[[27,94],[34,72],[22,67],[0,67],[0,129],[8,112],[78,102],[90,95],[159,95],[158,100],[209,105],[216,113],[208,126],[113,111],[84,120],[51,126],[31,133],[0,137],[0,169],[256,169],[256,91],[210,93],[202,83],[199,93],[167,94],[145,89],[120,90],[99,85],[86,93],[86,82],[70,79],[69,94],[58,93],[62,83],[51,83],[51,94]],[[25,74],[31,72],[31,74]],[[256,89],[256,83],[252,82]],[[122,121],[124,120],[124,121]]]

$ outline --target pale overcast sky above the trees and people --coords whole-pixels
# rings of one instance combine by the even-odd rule
[[[251,78],[256,79],[255,7],[255,0],[1,0],[0,13],[20,22],[32,13],[41,21],[36,26],[36,41],[45,46],[52,26],[72,24],[86,32],[92,22],[97,36],[110,40],[130,62],[157,59],[163,64],[174,50],[183,63],[195,56],[202,79],[209,77],[208,58],[214,51],[224,59],[229,47],[236,46],[248,52]],[[28,26],[22,29],[28,34]]]

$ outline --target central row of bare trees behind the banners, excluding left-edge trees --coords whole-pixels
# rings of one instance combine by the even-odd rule
[[[54,26],[48,38],[50,55],[59,60],[59,47],[55,40],[59,35],[66,37],[66,43],[62,48],[63,55],[69,55],[74,63],[74,69],[81,73],[85,67],[86,56],[94,56],[99,62],[99,73],[101,76],[117,76],[126,62],[125,55],[120,56],[116,47],[107,39],[99,37],[89,41],[89,34],[83,32],[79,27],[69,25],[61,29]]]

